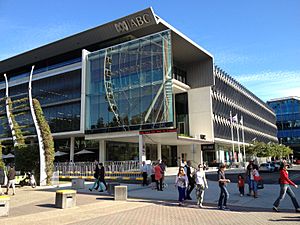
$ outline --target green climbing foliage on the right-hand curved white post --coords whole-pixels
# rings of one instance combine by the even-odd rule
[[[55,157],[54,152],[54,141],[51,134],[51,130],[47,120],[45,119],[40,102],[37,99],[33,99],[33,108],[36,114],[37,122],[41,130],[41,136],[43,139],[45,149],[45,161],[46,161],[46,174],[47,174],[47,185],[51,183],[51,177],[53,174],[53,162]]]

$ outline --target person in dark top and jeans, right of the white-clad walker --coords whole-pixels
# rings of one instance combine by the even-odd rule
[[[220,187],[220,197],[218,202],[218,209],[221,210],[228,210],[227,208],[227,200],[229,198],[229,193],[227,191],[226,185],[227,183],[230,183],[229,179],[226,179],[225,177],[225,169],[226,166],[222,164],[218,170],[218,181],[219,181],[219,187]]]

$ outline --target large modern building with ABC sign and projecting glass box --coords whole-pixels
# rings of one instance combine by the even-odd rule
[[[57,161],[230,161],[253,138],[277,140],[272,110],[151,8],[0,62],[28,143],[37,141],[28,104],[32,65],[33,97],[56,151],[67,153]],[[0,78],[0,138],[9,151]],[[244,118],[241,138],[230,112]],[[82,149],[93,153],[81,155]]]

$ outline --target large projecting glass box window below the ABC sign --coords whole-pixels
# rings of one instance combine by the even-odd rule
[[[92,52],[86,133],[173,126],[170,32]]]

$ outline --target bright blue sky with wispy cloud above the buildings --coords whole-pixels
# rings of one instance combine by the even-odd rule
[[[262,100],[300,96],[298,0],[0,0],[0,60],[149,6]]]

